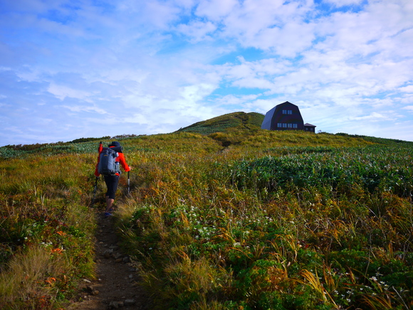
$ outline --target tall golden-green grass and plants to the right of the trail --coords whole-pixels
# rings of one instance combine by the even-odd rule
[[[153,308],[412,303],[411,149],[305,133],[252,143],[250,134],[209,135],[230,142],[224,152],[174,153],[169,140],[168,150],[142,153],[145,177],[134,180],[119,223]]]

